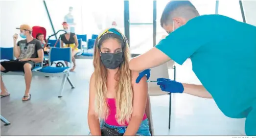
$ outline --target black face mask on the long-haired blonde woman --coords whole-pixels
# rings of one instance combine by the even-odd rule
[[[100,53],[102,64],[108,69],[116,69],[123,62],[123,52],[120,53]]]

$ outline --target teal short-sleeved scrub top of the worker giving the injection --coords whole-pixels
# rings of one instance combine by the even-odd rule
[[[256,103],[256,26],[222,15],[191,19],[157,46],[182,65],[190,57],[192,69],[219,109],[243,118]]]

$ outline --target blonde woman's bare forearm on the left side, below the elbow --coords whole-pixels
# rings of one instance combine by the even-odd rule
[[[92,136],[101,136],[99,119],[95,115],[88,115],[88,124]]]

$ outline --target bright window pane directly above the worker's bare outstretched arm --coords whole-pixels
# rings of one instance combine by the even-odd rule
[[[153,47],[153,0],[130,0],[129,12],[130,50],[141,54]]]

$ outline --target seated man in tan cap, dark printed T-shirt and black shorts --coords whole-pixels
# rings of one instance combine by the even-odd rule
[[[18,35],[14,34],[13,36],[13,54],[16,57],[16,60],[3,61],[1,62],[1,71],[23,71],[25,77],[26,90],[23,96],[23,101],[28,101],[31,99],[31,94],[29,93],[30,84],[32,80],[32,69],[35,67],[36,63],[40,63],[44,59],[43,47],[39,40],[32,37],[32,28],[23,24],[20,28],[20,36],[24,39],[19,41],[17,44]],[[4,86],[2,81],[2,76],[0,77],[1,81],[1,98],[9,96],[10,93]]]

